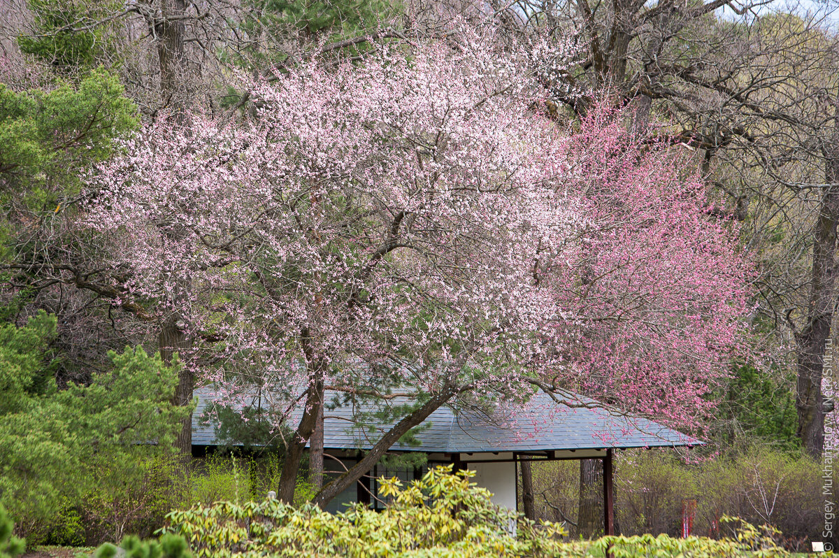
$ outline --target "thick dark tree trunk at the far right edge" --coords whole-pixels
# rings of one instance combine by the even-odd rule
[[[839,109],[837,109],[839,110]],[[821,393],[827,339],[836,308],[836,223],[839,222],[839,127],[824,149],[825,191],[813,231],[813,267],[804,329],[795,336],[798,380],[795,408],[798,435],[810,456],[821,458],[825,446],[825,412]]]

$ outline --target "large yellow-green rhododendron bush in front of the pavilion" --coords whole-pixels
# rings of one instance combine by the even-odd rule
[[[172,512],[164,532],[183,535],[198,556],[541,556],[565,547],[559,525],[498,508],[469,481],[473,472],[450,473],[437,467],[408,486],[382,479],[390,504],[381,513],[361,504],[333,515],[308,503],[220,502]]]

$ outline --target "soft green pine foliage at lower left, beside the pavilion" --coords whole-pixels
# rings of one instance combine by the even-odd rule
[[[0,503],[44,526],[100,482],[102,462],[128,472],[137,456],[166,451],[191,410],[169,403],[180,364],[140,347],[110,352],[112,369],[90,385],[58,390],[54,335],[44,312],[0,328]]]

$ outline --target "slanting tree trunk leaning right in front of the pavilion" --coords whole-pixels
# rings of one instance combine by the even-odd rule
[[[359,478],[362,477],[362,475],[378,463],[385,452],[388,451],[393,444],[399,441],[399,438],[414,428],[414,426],[422,424],[423,420],[427,419],[428,416],[435,410],[440,409],[440,407],[443,404],[446,404],[446,402],[457,392],[458,389],[456,389],[453,385],[446,385],[440,390],[440,392],[426,401],[419,409],[416,409],[410,415],[404,417],[402,420],[399,420],[399,422],[396,423],[396,425],[393,425],[393,427],[382,436],[376,445],[373,446],[373,449],[368,451],[367,454],[362,457],[361,461],[357,462],[355,466],[351,467],[350,470],[341,475],[341,477],[336,478],[324,488],[321,488],[320,492],[315,495],[315,498],[312,498],[312,503],[315,503],[320,506],[320,508],[323,508],[331,501],[332,498],[335,498],[338,494],[342,493],[347,488],[350,488],[358,481]]]

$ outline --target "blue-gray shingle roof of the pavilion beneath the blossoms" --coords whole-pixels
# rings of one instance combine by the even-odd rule
[[[327,392],[327,401],[331,399]],[[214,425],[199,424],[211,404],[212,388],[195,390],[198,408],[192,417],[194,446],[220,445]],[[592,399],[569,394],[569,401],[593,404]],[[390,425],[375,432],[353,426],[358,411],[372,411],[371,404],[339,405],[324,413],[324,447],[332,450],[367,450]],[[292,414],[291,423],[300,419]],[[703,442],[658,423],[639,417],[610,414],[601,408],[570,408],[538,392],[524,406],[498,409],[492,417],[476,412],[437,409],[425,420],[425,430],[416,436],[420,446],[398,444],[393,450],[428,453],[475,453],[501,451],[598,450],[603,448],[696,446]]]

